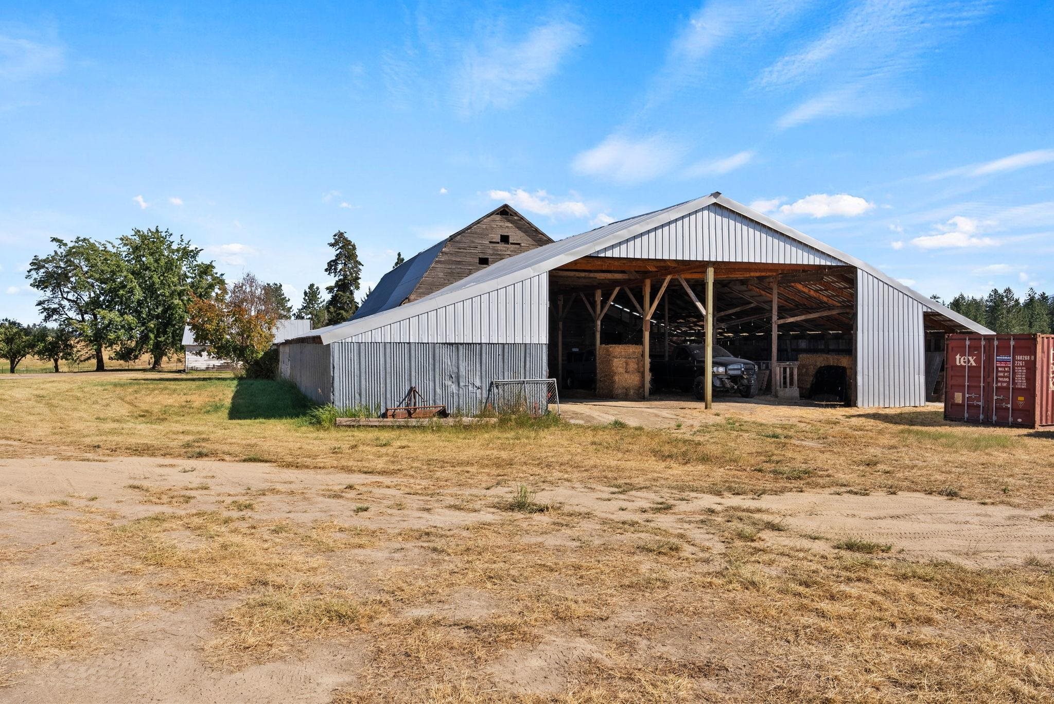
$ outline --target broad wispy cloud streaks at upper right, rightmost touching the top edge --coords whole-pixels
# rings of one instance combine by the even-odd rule
[[[754,85],[812,94],[777,120],[781,129],[820,117],[895,110],[906,102],[903,77],[990,5],[989,0],[855,4],[819,37],[762,71]]]

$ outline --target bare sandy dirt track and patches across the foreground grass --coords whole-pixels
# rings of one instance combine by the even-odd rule
[[[684,417],[679,413],[686,412],[668,403],[650,408],[664,422]],[[97,533],[84,528],[93,521],[105,519],[120,530],[136,520],[171,516],[173,511],[223,511],[234,521],[245,521],[251,513],[252,521],[272,526],[272,531],[277,530],[274,526],[338,521],[347,526],[339,529],[345,533],[356,530],[369,535],[379,530],[404,535],[496,525],[503,516],[494,506],[508,497],[509,490],[507,486],[437,490],[424,482],[372,474],[199,459],[0,461],[2,586],[36,594],[69,587],[74,580],[87,594],[83,613],[106,624],[108,633],[98,647],[74,659],[55,658],[40,664],[0,653],[0,673],[7,672],[0,701],[314,702],[326,701],[335,688],[360,677],[355,672],[364,667],[362,640],[346,641],[341,647],[318,642],[293,656],[234,670],[210,665],[202,650],[208,650],[218,624],[230,619],[223,614],[236,600],[157,601],[144,591],[143,578],[137,573],[106,576],[104,571],[78,571],[96,547]],[[642,525],[647,530],[685,536],[686,544],[695,546],[687,554],[725,550],[726,543],[714,524],[705,521],[734,513],[764,519],[773,528],[764,540],[795,550],[834,554],[836,541],[856,536],[889,545],[891,556],[909,560],[1010,566],[1030,558],[1054,559],[1054,522],[1046,510],[982,506],[923,494],[802,492],[720,497],[632,487],[612,491],[610,487],[561,486],[540,491],[536,500],[559,505],[568,515],[590,516],[589,521],[624,523],[627,516],[646,516]],[[167,542],[158,543],[157,549],[193,546],[199,540],[186,530],[165,535]],[[583,539],[580,526],[542,540],[566,547]],[[358,550],[348,567],[353,574],[393,566],[406,569],[424,554],[398,542],[382,543]],[[67,574],[64,568],[73,571]],[[121,601],[115,593],[131,597]],[[408,623],[477,619],[499,608],[488,599],[482,592],[457,592],[454,601],[417,605],[392,618]],[[495,665],[493,678],[519,690],[558,691],[566,686],[567,668],[593,657],[599,657],[597,649],[581,637],[550,638],[538,646],[510,651]]]

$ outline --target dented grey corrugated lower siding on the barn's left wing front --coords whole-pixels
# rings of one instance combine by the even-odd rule
[[[333,349],[333,403],[377,412],[402,405],[410,387],[429,404],[477,413],[494,379],[543,378],[547,345],[352,343]]]

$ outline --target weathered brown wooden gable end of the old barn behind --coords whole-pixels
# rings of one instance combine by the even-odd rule
[[[507,245],[502,242],[502,235],[508,236]],[[407,298],[407,302],[435,293],[502,259],[551,241],[529,222],[512,213],[502,211],[493,213],[447,242],[413,293]],[[488,263],[481,265],[480,257],[487,257]]]

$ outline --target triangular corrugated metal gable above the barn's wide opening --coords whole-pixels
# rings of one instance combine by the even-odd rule
[[[597,255],[635,259],[844,263],[717,203],[604,248]]]

